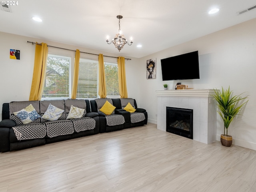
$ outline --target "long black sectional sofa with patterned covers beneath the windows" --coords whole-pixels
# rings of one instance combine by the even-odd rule
[[[106,100],[116,107],[111,115],[104,114],[100,111],[101,106],[97,106],[97,103],[100,105],[100,103],[104,103]],[[130,113],[123,109],[124,105],[128,102],[132,104],[136,110],[135,112]],[[35,118],[32,122],[24,124],[15,114],[30,104],[32,104],[34,110],[41,118]],[[49,104],[63,110],[58,120],[42,118]],[[70,114],[71,107],[85,109],[82,117],[66,119]],[[2,121],[0,122],[0,152],[20,150],[72,138],[142,126],[147,124],[147,120],[146,110],[137,108],[136,101],[129,98],[106,98],[90,101],[66,99],[4,103],[2,107]]]

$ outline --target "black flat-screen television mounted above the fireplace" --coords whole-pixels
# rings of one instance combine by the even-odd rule
[[[199,79],[198,51],[161,59],[161,66],[163,81]]]

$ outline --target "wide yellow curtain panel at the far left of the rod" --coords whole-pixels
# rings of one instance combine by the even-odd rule
[[[48,46],[46,43],[41,44],[36,43],[34,72],[29,96],[30,101],[41,100],[44,91]]]

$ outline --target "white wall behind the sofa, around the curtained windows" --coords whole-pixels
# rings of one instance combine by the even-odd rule
[[[88,48],[0,32],[0,120],[2,120],[3,103],[29,100],[36,46],[28,43],[27,41],[39,43],[44,42],[51,46],[57,46],[70,50],[79,49],[80,52],[92,54],[101,53],[106,56],[122,56],[120,54],[112,54],[99,50],[92,50]],[[20,50],[20,60],[10,59],[10,49]],[[48,53],[71,56],[73,74],[75,51],[48,47]],[[98,60],[97,55],[80,53],[80,57]],[[138,58],[127,56],[124,57],[131,59],[125,60],[128,97],[135,98],[139,106],[139,87],[134,86],[138,84],[136,77],[138,76],[139,72],[134,70],[136,69]],[[117,59],[104,57],[104,61],[116,62]]]

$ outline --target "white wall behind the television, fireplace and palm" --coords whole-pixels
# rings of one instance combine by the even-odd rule
[[[162,81],[162,58],[196,50],[199,52],[200,79]],[[151,58],[157,59],[157,74],[156,79],[147,80],[146,60]],[[162,90],[164,83],[169,84],[169,89],[174,89],[177,82],[196,89],[220,89],[230,85],[234,94],[246,92],[244,96],[248,96],[249,102],[243,116],[231,123],[228,134],[232,135],[233,144],[256,150],[256,19],[140,58],[140,64],[140,106],[147,109],[149,122],[156,123],[155,90]],[[217,116],[217,140],[220,140],[223,123]]]

